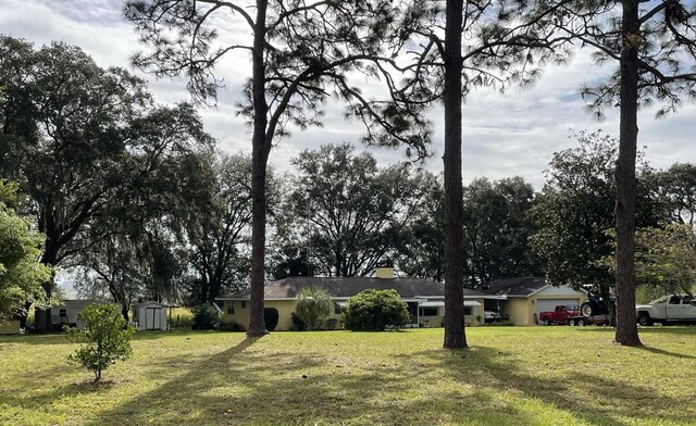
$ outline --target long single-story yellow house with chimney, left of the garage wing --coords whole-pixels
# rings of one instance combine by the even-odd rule
[[[330,322],[335,328],[341,328],[340,311],[348,299],[360,291],[373,288],[394,289],[407,303],[411,324],[409,327],[440,327],[445,315],[445,286],[427,279],[395,278],[394,270],[380,267],[375,277],[288,277],[266,284],[264,308],[278,311],[276,330],[289,330],[293,326],[297,295],[307,287],[326,290],[334,301]],[[243,328],[249,325],[249,290],[216,298],[223,311],[225,322],[235,322]],[[464,314],[468,325],[483,323],[483,306],[486,299],[498,300],[505,297],[478,291],[464,291]]]

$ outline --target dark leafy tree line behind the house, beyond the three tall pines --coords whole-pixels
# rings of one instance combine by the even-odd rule
[[[0,170],[29,200],[21,213],[45,236],[44,265],[74,272],[124,316],[138,298],[195,303],[248,285],[251,159],[215,152],[191,105],[158,105],[142,80],[76,47],[2,37],[0,49]],[[600,259],[611,252],[616,141],[577,139],[538,195],[520,177],[464,188],[467,286],[537,274],[611,284]],[[442,177],[353,151],[325,146],[295,159],[296,174],[270,174],[266,271],[369,275],[390,261],[443,280]],[[639,224],[693,222],[691,165],[639,172]],[[52,278],[42,284],[50,298]]]

